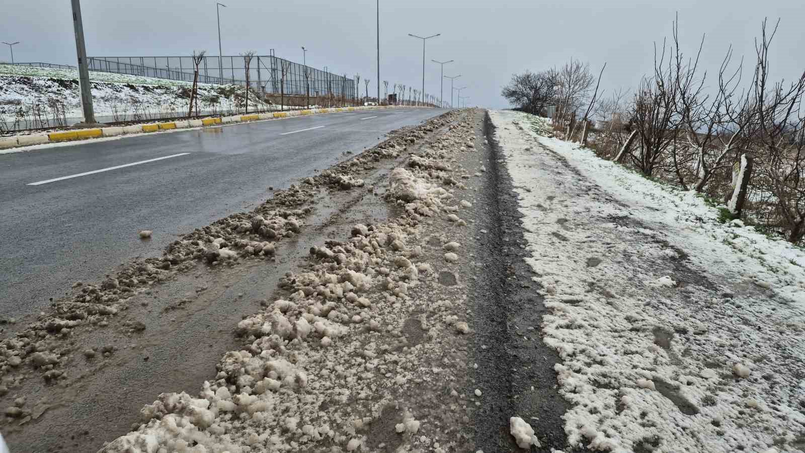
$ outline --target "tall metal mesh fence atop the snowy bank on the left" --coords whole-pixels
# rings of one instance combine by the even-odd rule
[[[91,56],[87,62],[90,71],[176,81],[193,81],[196,69],[192,56]],[[244,56],[204,56],[198,69],[200,83],[246,85]],[[248,72],[250,88],[262,94],[332,95],[349,100],[356,96],[355,81],[349,77],[273,55],[253,56]]]

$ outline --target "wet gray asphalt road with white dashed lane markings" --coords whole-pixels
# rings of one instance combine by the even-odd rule
[[[159,256],[193,228],[257,206],[269,186],[443,112],[339,112],[0,155],[0,316],[35,314],[75,281]]]

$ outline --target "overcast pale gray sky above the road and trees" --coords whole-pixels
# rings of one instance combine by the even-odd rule
[[[14,46],[18,61],[75,64],[68,0],[5,0],[0,40]],[[327,65],[334,73],[375,79],[375,2],[324,0],[224,0],[221,35],[225,55],[247,50]],[[82,0],[90,56],[188,55],[206,49],[217,55],[215,2],[197,0]],[[398,0],[380,2],[381,80],[419,87],[422,41],[407,36],[442,35],[427,41],[425,85],[439,94],[439,65],[461,74],[456,86],[469,103],[504,107],[500,97],[512,73],[562,64],[571,56],[589,61],[597,73],[608,62],[602,87],[630,88],[650,72],[653,42],[671,35],[679,12],[680,33],[694,52],[708,35],[704,64],[717,69],[730,43],[736,56],[753,64],[753,38],[763,17],[782,18],[771,52],[775,77],[791,79],[805,69],[805,7],[802,0],[627,2],[625,0]],[[0,60],[8,48],[0,48]],[[749,68],[751,69],[751,68]],[[361,82],[362,85],[362,82]],[[449,96],[449,81],[444,98]],[[369,89],[370,92],[373,89]]]

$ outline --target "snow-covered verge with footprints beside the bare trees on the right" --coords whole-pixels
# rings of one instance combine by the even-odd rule
[[[805,252],[494,111],[568,447],[803,451]]]

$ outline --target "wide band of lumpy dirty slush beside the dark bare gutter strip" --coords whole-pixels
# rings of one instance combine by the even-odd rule
[[[226,353],[196,397],[159,395],[142,409],[142,425],[102,451],[471,449],[472,431],[462,425],[472,400],[460,394],[466,287],[441,289],[445,277],[436,269],[460,260],[462,246],[449,232],[467,225],[460,214],[472,204],[455,193],[467,189],[460,180],[470,175],[451,162],[476,152],[473,114],[442,117],[423,131],[455,117],[406,168],[390,172],[383,197],[396,218],[314,244],[308,264],[279,281],[287,296],[238,323],[247,346]],[[373,157],[353,162],[361,159]],[[362,183],[340,168],[320,178]],[[237,222],[254,232],[269,221],[253,215]],[[216,249],[218,239],[193,253],[236,243]],[[242,240],[241,253],[257,250],[257,240]]]

